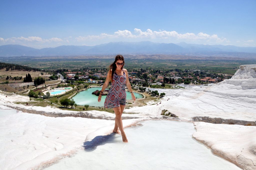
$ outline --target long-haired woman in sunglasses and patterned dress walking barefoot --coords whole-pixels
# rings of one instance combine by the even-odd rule
[[[100,91],[98,102],[101,101],[101,95],[103,91],[108,87],[109,81],[111,80],[112,86],[109,89],[108,95],[105,99],[104,108],[113,108],[115,112],[115,127],[113,132],[119,134],[119,128],[122,134],[123,142],[128,142],[124,133],[121,118],[126,102],[125,84],[132,95],[132,100],[135,100],[135,96],[128,79],[128,72],[126,69],[123,69],[123,66],[124,57],[122,55],[117,55],[115,57],[115,61],[109,66],[110,69],[106,77],[106,81]]]

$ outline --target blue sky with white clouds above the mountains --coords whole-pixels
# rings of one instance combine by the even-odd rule
[[[0,45],[111,41],[256,47],[256,1],[1,1]]]

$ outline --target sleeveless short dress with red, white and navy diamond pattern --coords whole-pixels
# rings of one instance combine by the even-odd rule
[[[123,69],[124,73],[124,69]],[[125,92],[125,83],[126,76],[125,73],[123,76],[119,76],[114,72],[113,81],[111,88],[109,89],[108,95],[104,102],[104,108],[116,108],[121,105],[125,105],[126,102],[126,92]]]

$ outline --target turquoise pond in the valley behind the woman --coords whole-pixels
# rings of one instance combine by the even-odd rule
[[[94,92],[96,90],[101,90],[101,89],[102,89],[101,87],[88,88],[84,91],[77,93],[74,97],[72,97],[72,99],[74,99],[74,101],[78,105],[89,104],[90,106],[94,106],[94,107],[103,107],[105,99],[106,99],[106,95],[103,95],[101,97],[101,102],[98,102],[98,96],[95,94],[92,94],[92,92]],[[143,98],[143,96],[140,93],[134,92],[134,95],[137,98]],[[130,92],[126,91],[126,100],[131,100],[131,99],[132,99],[132,97],[131,97]]]

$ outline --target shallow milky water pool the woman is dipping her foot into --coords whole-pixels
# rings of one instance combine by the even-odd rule
[[[192,138],[193,123],[147,120],[119,134],[97,136],[84,149],[46,169],[240,169]],[[97,146],[95,146],[95,143]]]

